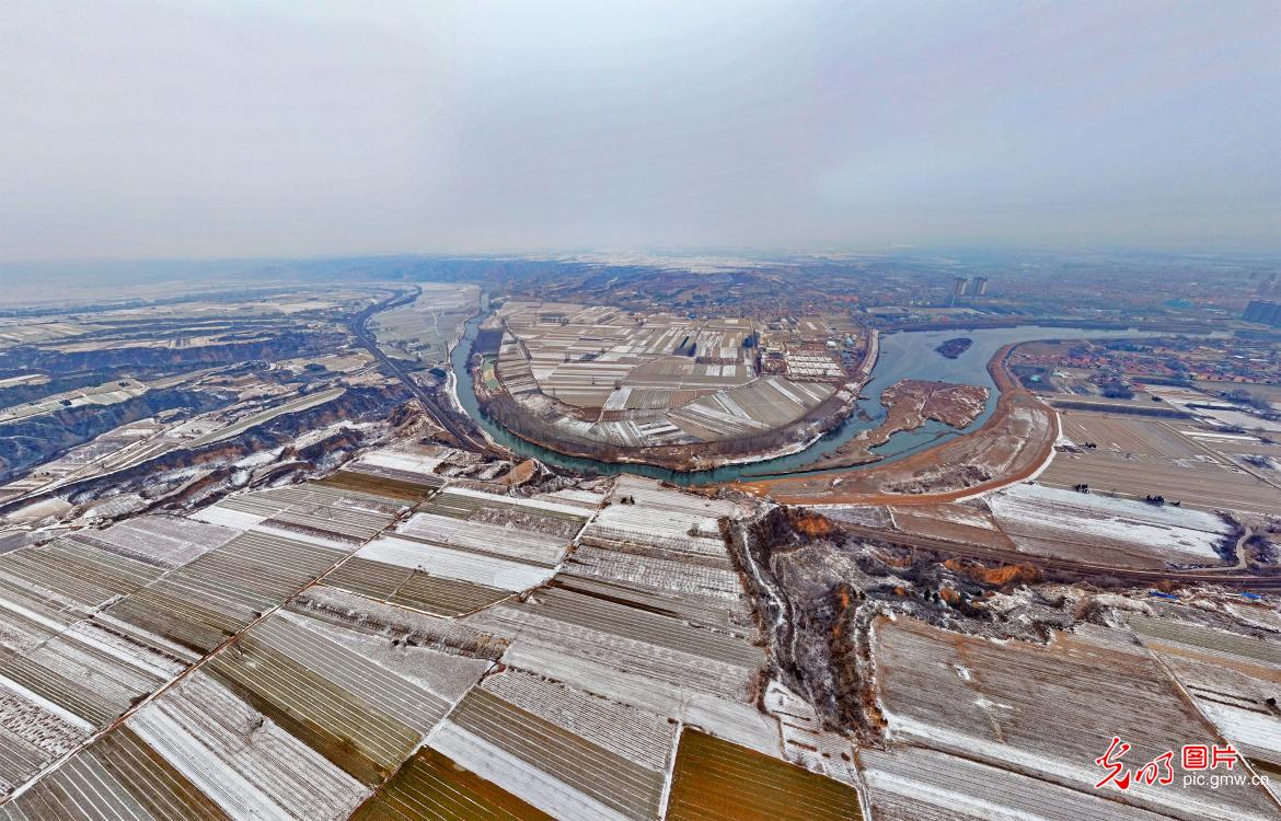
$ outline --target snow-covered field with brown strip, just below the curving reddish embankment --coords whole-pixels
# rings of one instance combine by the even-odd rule
[[[1017,484],[986,497],[1000,529],[1024,551],[1116,566],[1222,564],[1236,537],[1199,510]]]

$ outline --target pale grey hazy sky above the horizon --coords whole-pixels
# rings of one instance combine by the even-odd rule
[[[1281,0],[0,0],[0,259],[1277,248]]]

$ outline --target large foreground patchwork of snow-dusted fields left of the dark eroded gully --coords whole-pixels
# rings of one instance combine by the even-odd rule
[[[361,464],[0,555],[0,821],[655,818],[680,726],[784,754],[737,506]]]

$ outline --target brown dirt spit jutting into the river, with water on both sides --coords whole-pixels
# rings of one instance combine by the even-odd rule
[[[871,430],[863,430],[839,448],[828,453],[812,467],[849,467],[883,459],[872,448],[889,442],[903,430],[916,430],[926,420],[940,421],[952,428],[966,428],[983,414],[988,405],[988,388],[949,382],[903,379],[881,393],[885,420]]]

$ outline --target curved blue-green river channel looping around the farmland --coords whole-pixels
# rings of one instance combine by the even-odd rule
[[[485,301],[487,302],[487,301]],[[804,473],[804,466],[813,462],[820,456],[836,450],[840,444],[854,437],[860,430],[875,428],[884,418],[885,409],[880,403],[881,392],[901,379],[934,379],[939,382],[956,382],[962,384],[976,384],[989,388],[988,407],[974,421],[972,425],[962,430],[956,430],[938,421],[926,421],[922,428],[895,433],[890,439],[875,448],[875,452],[884,456],[876,465],[903,459],[910,453],[924,450],[938,442],[961,435],[983,425],[997,407],[997,388],[988,374],[988,361],[1000,350],[1002,346],[1012,342],[1031,342],[1034,339],[1082,339],[1082,338],[1118,338],[1152,336],[1150,332],[1136,330],[1100,330],[1098,328],[1047,328],[1040,325],[1018,325],[1016,328],[984,328],[975,330],[912,330],[881,334],[880,356],[872,369],[871,380],[863,386],[863,396],[858,400],[862,414],[854,412],[845,419],[840,427],[833,429],[817,442],[813,442],[803,451],[790,456],[747,462],[742,465],[728,465],[712,470],[680,471],[653,465],[625,465],[616,462],[602,462],[594,459],[582,459],[566,456],[557,451],[548,450],[533,442],[521,439],[506,428],[485,418],[477,402],[475,391],[471,389],[471,378],[468,375],[468,359],[471,354],[471,342],[477,337],[477,329],[488,315],[487,304],[482,313],[466,323],[462,341],[453,347],[450,362],[457,379],[457,394],[462,407],[477,420],[480,427],[493,438],[494,442],[511,451],[537,459],[548,465],[573,470],[578,473],[612,475],[620,473],[639,474],[655,479],[665,479],[674,484],[690,485],[712,482],[733,482],[739,476],[775,478],[784,474],[796,475]],[[947,359],[934,348],[944,339],[954,337],[968,337],[974,345],[957,359]],[[869,465],[871,466],[871,465]],[[849,467],[839,470],[848,471]],[[856,469],[857,470],[857,469]],[[828,471],[815,471],[828,473]]]

